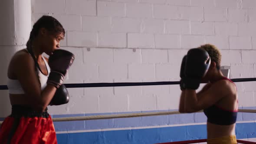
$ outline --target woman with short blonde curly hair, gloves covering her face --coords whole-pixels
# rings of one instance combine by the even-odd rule
[[[210,59],[208,60],[207,57]],[[198,59],[201,60],[198,61]],[[220,71],[220,62],[220,51],[211,44],[189,50],[181,65],[182,92],[179,111],[191,113],[203,110],[207,116],[207,144],[237,144],[235,135],[238,111],[236,85],[224,77]],[[200,68],[203,71],[199,75],[197,69]],[[200,82],[207,84],[197,93],[196,89]]]

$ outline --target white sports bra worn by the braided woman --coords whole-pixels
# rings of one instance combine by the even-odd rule
[[[48,75],[44,75],[38,68],[37,69],[37,73],[38,73],[38,77],[39,77],[39,81],[41,83],[41,90],[43,90],[46,87],[46,82],[50,73],[50,67],[46,61],[46,59],[42,56],[43,61],[46,65],[46,69],[48,72]],[[20,85],[20,82],[17,79],[9,79],[7,77],[7,87],[9,89],[9,93],[10,94],[24,94],[24,90]]]

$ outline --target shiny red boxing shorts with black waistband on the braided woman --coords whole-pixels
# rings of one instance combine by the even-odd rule
[[[47,110],[13,105],[12,114],[0,127],[0,144],[57,144],[51,116]]]

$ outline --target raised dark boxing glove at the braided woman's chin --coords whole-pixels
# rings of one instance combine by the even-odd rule
[[[51,72],[49,73],[47,84],[59,88],[74,59],[75,56],[71,52],[63,49],[56,49],[53,54],[49,56],[48,64],[51,68]]]

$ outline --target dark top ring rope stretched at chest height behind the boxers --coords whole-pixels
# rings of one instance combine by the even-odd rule
[[[231,79],[233,82],[252,82],[256,78]],[[117,86],[141,86],[141,85],[179,85],[180,81],[175,82],[115,82],[115,83],[80,83],[64,84],[66,88],[90,88],[90,87],[117,87]],[[7,90],[7,85],[0,85],[0,90]]]

